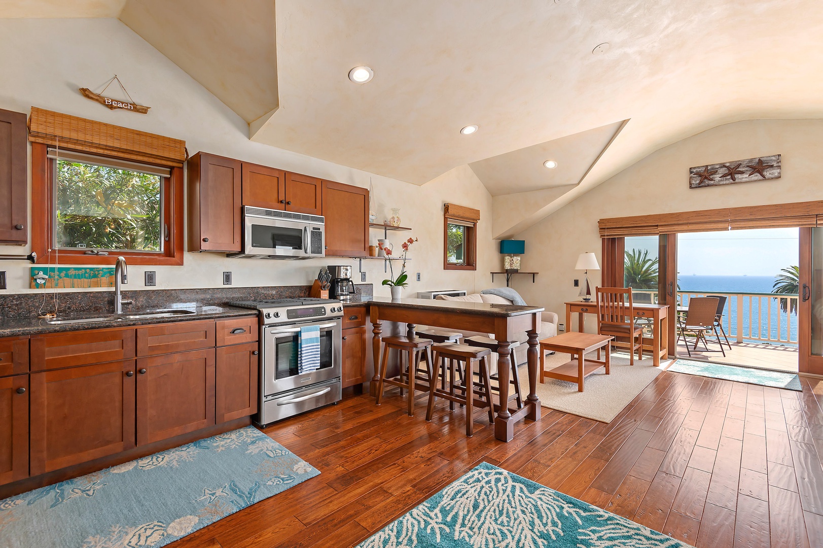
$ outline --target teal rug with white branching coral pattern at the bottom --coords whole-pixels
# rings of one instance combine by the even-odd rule
[[[359,548],[683,548],[670,536],[486,462]]]

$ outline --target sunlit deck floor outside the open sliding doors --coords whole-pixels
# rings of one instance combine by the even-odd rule
[[[691,349],[691,347],[690,347]],[[797,372],[797,347],[778,346],[776,344],[737,343],[732,341],[732,348],[724,347],[726,356],[717,351],[718,345],[709,342],[706,352],[701,343],[698,349],[691,350],[691,358],[686,352],[686,346],[677,345],[679,358],[708,360],[714,363],[730,363],[732,365],[746,365],[752,368],[777,369],[779,371]]]

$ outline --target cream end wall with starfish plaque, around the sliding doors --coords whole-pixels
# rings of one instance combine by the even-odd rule
[[[726,124],[662,148],[621,171],[588,194],[518,235],[526,240],[523,270],[538,271],[537,283],[520,276],[514,287],[530,304],[560,314],[577,298],[577,257],[593,251],[602,265],[597,220],[823,199],[820,169],[823,120],[747,120]],[[689,189],[689,168],[782,154],[778,180]],[[600,283],[600,272],[590,275]]]

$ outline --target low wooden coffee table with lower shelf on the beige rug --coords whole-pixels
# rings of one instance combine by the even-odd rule
[[[613,339],[608,335],[593,335],[591,333],[570,332],[556,337],[549,337],[540,341],[540,382],[546,377],[560,379],[560,381],[577,382],[577,391],[583,391],[583,379],[597,369],[605,367],[606,374],[610,373],[611,352],[609,342]],[[606,358],[603,360],[586,358],[585,354],[593,350],[606,349]],[[571,354],[571,361],[546,371],[546,351],[554,350],[561,354]],[[600,352],[597,352],[599,358]],[[576,358],[575,358],[576,356]]]

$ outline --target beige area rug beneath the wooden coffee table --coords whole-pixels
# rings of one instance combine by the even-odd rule
[[[597,353],[592,356],[597,357]],[[546,369],[562,365],[569,359],[569,354],[546,356]],[[670,363],[670,359],[661,360],[660,367],[655,368],[649,357],[642,361],[635,359],[635,365],[631,366],[628,354],[613,353],[611,374],[607,375],[605,369],[600,369],[589,375],[584,381],[584,391],[577,391],[576,382],[547,378],[542,384],[538,380],[537,397],[543,407],[610,423]],[[519,372],[525,395],[528,394],[528,369],[522,365]]]

